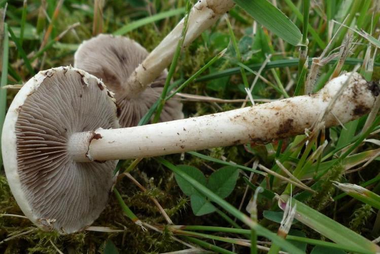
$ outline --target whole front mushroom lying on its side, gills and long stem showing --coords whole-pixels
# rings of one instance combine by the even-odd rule
[[[367,113],[378,93],[377,85],[347,73],[310,96],[115,129],[117,107],[101,81],[60,67],[40,72],[16,95],[2,133],[4,167],[34,224],[72,233],[105,207],[118,159],[271,142],[303,133],[328,108],[325,126],[338,125]]]

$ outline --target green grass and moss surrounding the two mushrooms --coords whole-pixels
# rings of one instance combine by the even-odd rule
[[[0,7],[4,8],[6,2],[0,1]],[[0,39],[1,86],[26,82],[40,70],[73,65],[75,49],[83,40],[91,38],[93,1],[66,0],[55,17],[57,2],[46,2],[45,11],[49,19],[39,14],[43,13],[40,12],[41,1],[29,0],[27,5],[22,0],[8,1],[5,33]],[[190,1],[190,4],[196,2]],[[342,27],[331,42],[327,55],[338,52],[346,35],[351,33],[355,44],[351,45],[349,57],[343,59],[342,71],[352,71],[356,65],[362,65],[367,48],[370,48],[367,54],[373,59],[374,67],[366,69],[368,65],[363,65],[362,73],[371,81],[380,79],[380,14],[373,13],[375,1],[321,1],[322,5],[317,6],[315,1],[280,0],[276,1],[278,9],[269,7],[269,2],[236,0],[240,6],[234,7],[227,19],[219,20],[182,50],[180,42],[175,60],[170,69],[168,67],[170,75],[165,90],[139,125],[146,124],[155,112],[158,119],[163,103],[177,92],[226,100],[244,99],[247,96],[245,88],[251,86],[260,69],[263,79],[259,78],[253,87],[254,100],[302,94],[305,78],[310,74],[304,63],[310,67],[312,58],[321,55],[336,33],[337,23],[344,22],[351,29]],[[128,36],[151,51],[184,17],[187,3],[184,0],[107,1],[102,12],[103,33]],[[41,47],[49,20],[53,20],[51,32]],[[80,22],[79,26],[58,37],[77,22]],[[263,26],[259,23],[253,25],[254,22],[261,22]],[[297,44],[303,44],[302,49],[307,55],[300,55],[299,47],[294,46]],[[270,61],[261,68],[268,55],[271,55]],[[322,88],[333,75],[337,59],[335,57],[320,66],[313,81],[314,90]],[[14,89],[0,89],[0,126],[16,93]],[[241,106],[238,103],[183,103],[185,117]],[[313,249],[313,253],[321,253],[317,252],[316,246],[327,248],[330,253],[338,250],[374,253],[378,246],[370,241],[380,236],[380,160],[375,158],[365,167],[361,166],[378,154],[378,142],[373,140],[379,139],[376,132],[380,130],[380,117],[375,117],[369,123],[370,127],[363,130],[366,119],[367,116],[363,116],[344,124],[344,128],[336,126],[323,130],[309,140],[300,135],[273,140],[269,144],[217,147],[187,152],[182,156],[174,154],[120,162],[118,170],[129,172],[146,190],[142,191],[128,177],[119,177],[108,206],[92,226],[122,232],[79,232],[59,236],[54,232],[35,230],[29,220],[12,216],[23,214],[11,194],[0,164],[0,252],[56,253],[58,248],[64,253],[160,253],[193,246],[220,253],[246,253],[250,250],[251,253],[264,253],[261,248],[269,249],[273,243],[272,251],[280,246],[289,253],[310,253]],[[366,139],[372,142],[366,142]],[[276,160],[316,193],[259,170],[257,163],[288,177]],[[204,180],[180,170],[183,166],[179,165],[201,171]],[[224,196],[218,193],[221,190],[215,184],[203,182],[221,174],[218,169],[223,166],[235,167],[239,172],[234,184],[226,183],[227,176],[220,181],[233,188],[229,195]],[[344,169],[352,172],[345,173]],[[175,174],[183,179],[181,188]],[[343,192],[332,181],[356,184],[368,190],[366,195],[347,188],[342,188]],[[251,215],[246,207],[259,186],[263,192],[257,197],[256,221],[256,214]],[[191,198],[182,192],[183,187],[191,189]],[[194,198],[194,194],[198,196]],[[285,194],[291,194],[292,204],[297,204],[297,221],[293,221],[289,234],[278,236],[283,212],[274,197]],[[152,198],[160,203],[174,225],[167,224]],[[192,202],[195,201],[204,202],[201,206],[198,203],[198,208],[209,208],[210,213],[194,215],[192,208],[197,206]],[[300,232],[302,236],[293,235],[293,231]],[[23,232],[26,233],[19,235]],[[13,235],[15,237],[8,240]],[[250,248],[251,239],[260,243],[257,250]]]

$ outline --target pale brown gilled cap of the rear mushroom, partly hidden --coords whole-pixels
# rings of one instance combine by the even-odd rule
[[[122,127],[135,126],[160,97],[167,71],[150,84],[137,97],[122,97],[127,89],[129,76],[147,57],[147,50],[139,43],[121,36],[100,34],[84,41],[74,56],[74,66],[102,79],[115,93],[121,109],[119,117]],[[124,94],[124,93],[123,93]],[[182,103],[172,98],[168,100],[160,115],[160,121],[182,119]]]

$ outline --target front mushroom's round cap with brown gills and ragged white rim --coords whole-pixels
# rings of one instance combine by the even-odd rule
[[[44,230],[73,233],[107,205],[117,161],[76,163],[73,133],[118,128],[112,94],[72,67],[41,71],[14,98],[2,133],[4,168],[24,214]]]

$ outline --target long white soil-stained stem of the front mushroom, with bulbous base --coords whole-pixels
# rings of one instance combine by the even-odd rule
[[[70,138],[68,150],[74,161],[89,162],[271,142],[312,128],[339,89],[349,82],[324,118],[326,127],[338,125],[367,113],[378,94],[377,86],[357,73],[348,81],[350,75],[331,80],[321,91],[309,96],[170,122],[76,133]]]

